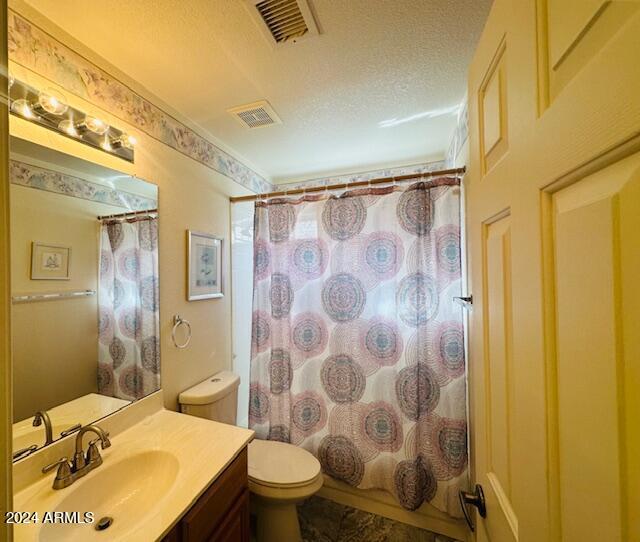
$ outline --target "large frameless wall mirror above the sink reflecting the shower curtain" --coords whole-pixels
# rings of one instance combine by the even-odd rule
[[[14,461],[160,388],[158,189],[11,138]]]

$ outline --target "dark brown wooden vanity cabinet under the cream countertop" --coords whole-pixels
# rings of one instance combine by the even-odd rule
[[[249,542],[247,449],[180,518],[163,542]]]

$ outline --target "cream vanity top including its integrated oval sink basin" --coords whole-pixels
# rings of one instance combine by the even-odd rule
[[[106,423],[104,429],[113,430]],[[111,447],[101,451],[102,465],[64,489],[53,489],[55,473],[43,475],[41,469],[63,455],[71,457],[73,439],[14,463],[14,483],[19,487],[14,510],[39,517],[14,526],[15,542],[162,539],[253,438],[247,429],[164,409],[113,433]],[[58,522],[51,523],[53,514],[47,512],[75,514],[58,516]],[[78,523],[85,512],[93,513],[93,523]],[[113,518],[113,523],[96,530],[104,517]]]

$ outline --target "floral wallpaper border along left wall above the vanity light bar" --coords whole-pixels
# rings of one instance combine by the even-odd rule
[[[9,11],[9,59],[254,192],[269,181],[24,17]]]

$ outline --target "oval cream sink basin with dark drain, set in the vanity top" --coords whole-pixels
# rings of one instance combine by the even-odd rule
[[[60,491],[68,495],[55,512],[85,512],[94,515],[93,524],[45,523],[40,539],[46,541],[114,540],[137,528],[166,495],[178,475],[176,457],[161,450],[141,452],[115,463],[103,463],[87,478]],[[96,530],[103,517],[113,518],[110,527]]]

